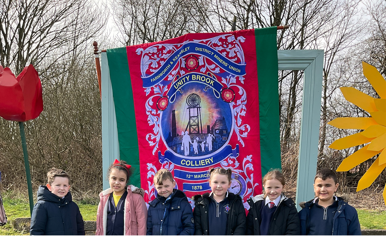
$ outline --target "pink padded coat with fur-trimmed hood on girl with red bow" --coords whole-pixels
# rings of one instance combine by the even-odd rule
[[[108,197],[111,188],[99,194],[100,202],[97,211],[97,232],[95,235],[106,235]],[[133,185],[127,186],[125,199],[125,235],[146,235],[147,207],[143,198],[144,191]]]

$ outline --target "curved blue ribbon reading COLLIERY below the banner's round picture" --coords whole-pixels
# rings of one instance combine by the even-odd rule
[[[165,154],[162,155],[161,151],[158,151],[158,159],[160,163],[164,161],[170,161],[176,166],[190,167],[190,168],[201,168],[208,167],[223,161],[229,156],[239,156],[239,144],[236,144],[236,148],[232,149],[229,144],[225,146],[220,152],[213,154],[210,157],[179,157],[174,155],[173,152],[166,150]]]

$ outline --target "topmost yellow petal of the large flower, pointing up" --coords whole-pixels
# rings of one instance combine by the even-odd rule
[[[386,80],[381,73],[372,65],[362,62],[363,74],[369,80],[379,97],[386,98]]]

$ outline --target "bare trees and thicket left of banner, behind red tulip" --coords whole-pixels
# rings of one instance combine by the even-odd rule
[[[75,191],[102,188],[100,95],[91,42],[100,38],[108,11],[91,1],[1,0],[0,63],[18,74],[34,64],[44,110],[26,122],[34,187],[47,169],[68,171]],[[17,122],[0,118],[0,169],[5,186],[22,188],[24,160]]]

